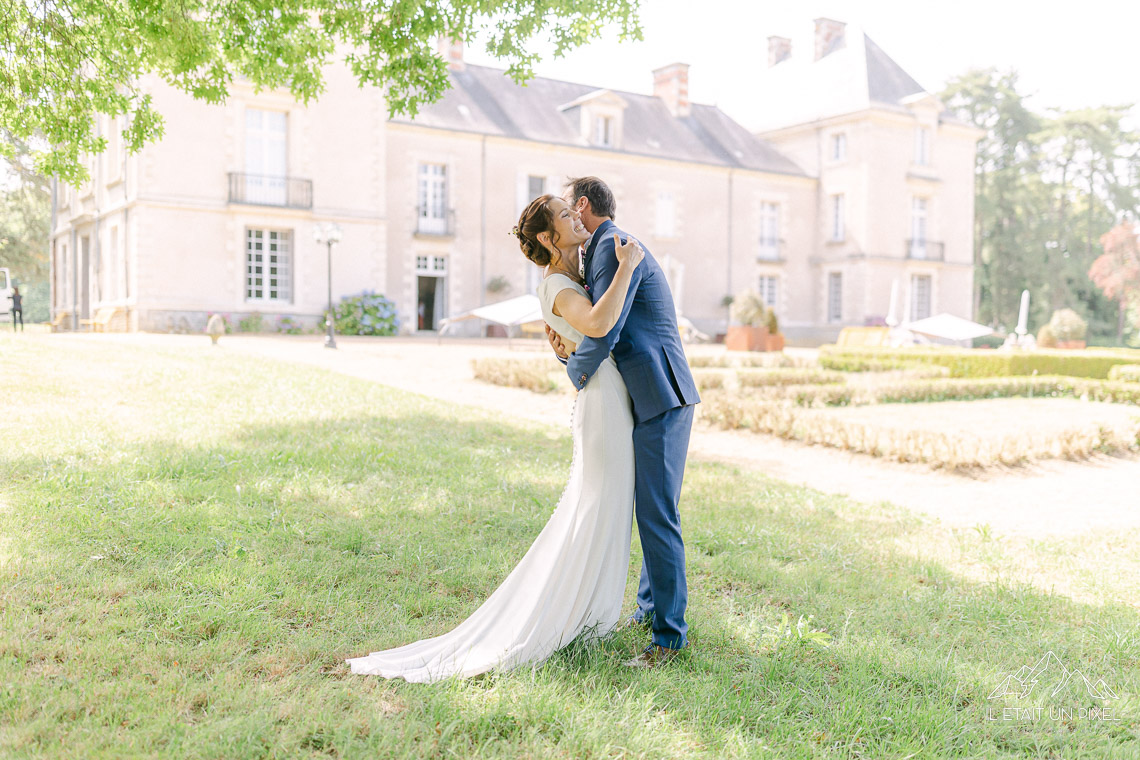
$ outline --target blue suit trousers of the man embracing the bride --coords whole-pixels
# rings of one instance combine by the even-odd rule
[[[637,612],[652,616],[653,643],[687,643],[685,545],[681,540],[681,483],[685,476],[694,407],[675,407],[634,425],[635,509],[642,546]]]

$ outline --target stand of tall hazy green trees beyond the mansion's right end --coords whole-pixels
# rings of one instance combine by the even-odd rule
[[[1129,106],[1034,113],[1017,74],[975,70],[943,93],[961,119],[986,131],[978,144],[975,314],[1009,328],[1031,293],[1031,325],[1072,308],[1092,336],[1118,335],[1118,304],[1089,278],[1100,234],[1135,216],[1140,136]]]

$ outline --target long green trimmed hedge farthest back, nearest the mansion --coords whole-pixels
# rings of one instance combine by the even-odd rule
[[[928,363],[950,369],[951,377],[1064,375],[1105,379],[1116,365],[1137,363],[1140,351],[974,351],[970,349],[848,349],[823,346],[820,363],[828,369],[866,371],[882,366]],[[863,369],[858,369],[863,367]],[[905,367],[891,367],[901,369]]]

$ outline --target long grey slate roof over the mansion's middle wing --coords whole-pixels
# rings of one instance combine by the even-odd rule
[[[562,108],[601,92],[595,87],[544,77],[519,85],[502,70],[471,64],[453,71],[450,80],[450,89],[439,101],[421,108],[415,119],[398,116],[393,121],[606,149],[591,146],[580,134],[577,107]],[[694,104],[689,116],[677,117],[654,96],[606,92],[626,103],[617,153],[804,175],[799,165],[716,106]]]

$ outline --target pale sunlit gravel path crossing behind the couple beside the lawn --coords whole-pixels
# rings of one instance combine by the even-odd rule
[[[206,340],[204,336],[90,336],[104,337],[168,345]],[[545,356],[545,344],[535,341],[514,341],[508,348],[506,341],[494,340],[342,337],[337,344],[336,351],[329,351],[314,336],[230,335],[222,338],[221,350],[324,367],[552,426],[562,427],[569,419],[572,404],[569,392],[537,394],[482,383],[472,375],[471,360],[475,358]],[[693,354],[723,351],[719,346],[687,350]],[[861,501],[889,501],[934,516],[948,526],[988,524],[995,533],[1025,537],[1140,526],[1140,458],[1134,457],[1102,457],[1083,463],[1049,460],[969,477],[925,465],[885,461],[703,424],[693,431],[690,453],[697,459],[731,463]]]

